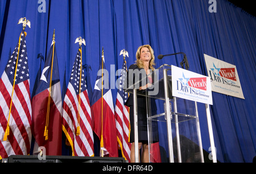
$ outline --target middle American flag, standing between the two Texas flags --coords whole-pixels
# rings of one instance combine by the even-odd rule
[[[73,155],[93,156],[92,115],[84,70],[82,70],[81,48],[77,52],[63,108],[63,131],[71,144]]]

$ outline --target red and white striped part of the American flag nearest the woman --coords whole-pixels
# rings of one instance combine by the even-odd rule
[[[130,162],[131,143],[129,143],[129,107],[123,104],[123,99],[119,93],[117,93],[117,100],[115,103],[115,126],[117,128],[118,143],[121,146],[122,155]]]

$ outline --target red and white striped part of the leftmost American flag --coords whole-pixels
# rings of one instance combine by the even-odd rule
[[[13,84],[4,71],[0,79],[0,159],[10,155],[28,155],[30,153],[31,100],[29,79],[15,84],[9,122],[10,135],[7,137],[7,141],[3,141],[12,92]]]

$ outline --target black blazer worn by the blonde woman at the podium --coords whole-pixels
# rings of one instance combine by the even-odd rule
[[[127,88],[132,86],[133,84],[137,83],[139,85],[135,86],[135,87],[137,89],[139,89],[139,87],[144,86],[147,83],[150,83],[150,80],[147,77],[146,71],[143,68],[139,68],[136,64],[133,64],[129,67],[129,70],[127,72],[127,79],[126,79]],[[133,78],[131,78],[131,75],[133,76]],[[154,73],[152,73],[151,76],[152,76],[152,83],[154,83],[154,77],[155,77]],[[129,77],[131,79],[133,79],[132,82],[129,82]],[[141,91],[138,90],[138,92],[145,94],[146,90],[141,90]],[[137,104],[138,104],[138,107],[146,109],[146,97],[144,97],[142,95],[137,95]],[[126,101],[125,105],[127,105],[127,107],[133,106],[133,94],[130,94],[130,96],[129,96],[128,100]],[[156,110],[155,100],[151,100],[151,108],[152,107],[155,108],[155,110]]]

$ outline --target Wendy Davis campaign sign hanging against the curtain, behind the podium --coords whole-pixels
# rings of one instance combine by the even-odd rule
[[[204,54],[212,91],[245,99],[235,65]]]

